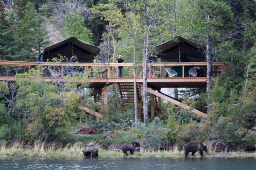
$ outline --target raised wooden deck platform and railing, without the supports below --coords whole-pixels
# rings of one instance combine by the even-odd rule
[[[142,84],[142,76],[140,66],[136,66],[136,81],[138,84]],[[182,77],[160,77],[157,76],[156,78],[147,78],[147,85],[151,88],[160,89],[160,88],[203,88],[206,87],[206,77],[185,77],[185,66],[198,66],[198,65],[207,65],[207,63],[153,63],[151,65],[154,66],[182,66],[183,72]],[[224,63],[223,62],[215,62],[212,63],[213,66],[220,67],[220,73],[223,73],[224,70]],[[44,77],[46,82],[53,82],[53,81],[64,81],[64,73],[63,69],[65,66],[81,66],[84,70],[88,70],[89,67],[93,68],[101,68],[95,69],[94,73],[96,73],[95,77],[90,77],[89,81],[91,82],[89,88],[103,88],[104,86],[109,86],[113,83],[128,83],[134,82],[133,73],[130,74],[130,77],[123,77],[118,78],[115,77],[118,75],[118,66],[125,67],[133,67],[133,63],[38,63],[38,62],[22,62],[22,61],[0,61],[0,66],[17,66],[17,67],[26,67],[28,74],[30,73],[31,67],[35,66],[59,66],[61,67],[62,71],[61,76],[59,77]],[[104,68],[104,69],[102,69]],[[130,69],[131,70],[131,69]],[[149,74],[148,74],[149,75]],[[161,75],[160,71],[156,71],[156,75]],[[0,73],[0,81],[15,81],[15,76],[7,76],[2,75]]]

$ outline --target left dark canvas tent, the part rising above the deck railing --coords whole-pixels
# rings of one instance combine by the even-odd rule
[[[60,58],[59,55],[68,59],[76,56],[80,63],[93,63],[94,56],[100,53],[100,48],[86,43],[78,38],[71,37],[45,47],[39,55],[39,62],[51,61],[53,57]]]

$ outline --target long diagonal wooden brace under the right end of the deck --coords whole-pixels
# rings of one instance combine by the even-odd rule
[[[182,102],[179,102],[177,100],[174,100],[173,98],[167,97],[166,95],[163,95],[162,93],[158,93],[157,91],[154,91],[151,88],[147,88],[147,92],[149,92],[151,94],[154,94],[156,96],[159,96],[159,97],[161,97],[161,98],[163,98],[163,99],[165,99],[165,100],[167,100],[169,102],[172,102],[172,103],[174,103],[174,104],[176,104],[176,105],[178,105],[180,107],[183,107],[185,109],[188,109],[188,110],[191,109],[189,106],[183,104]],[[205,113],[203,113],[203,112],[201,112],[199,110],[196,110],[196,109],[192,109],[191,112],[192,113],[196,113],[197,115],[200,115],[200,116],[202,116],[204,118],[207,118],[207,116],[208,116],[207,114],[205,114]]]

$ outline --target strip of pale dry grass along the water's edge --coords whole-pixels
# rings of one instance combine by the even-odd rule
[[[6,145],[2,141],[0,143],[0,157],[70,157],[79,158],[84,157],[82,149],[84,144],[78,142],[66,147],[61,147],[56,143],[36,143],[33,146],[24,149],[22,143],[13,143]],[[196,157],[200,157],[197,152]],[[189,154],[191,156],[191,153]],[[256,157],[256,152],[215,152],[209,148],[209,153],[204,152],[205,157]],[[125,157],[123,152],[110,151],[99,148],[99,157]],[[156,151],[143,150],[134,152],[134,155],[129,157],[184,157],[184,151],[179,150],[178,147],[169,151]]]

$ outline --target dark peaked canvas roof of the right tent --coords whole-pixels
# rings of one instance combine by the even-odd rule
[[[187,45],[191,45],[194,48],[197,48],[198,50],[205,51],[206,47],[202,46],[198,43],[195,43],[194,41],[190,41],[188,39],[182,38],[180,36],[175,37],[173,40],[166,41],[162,44],[156,45],[156,50],[159,53],[167,53],[170,52],[174,48],[178,48],[179,45],[182,45],[183,43]]]

